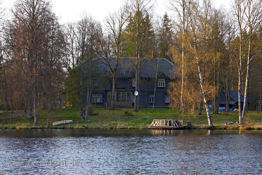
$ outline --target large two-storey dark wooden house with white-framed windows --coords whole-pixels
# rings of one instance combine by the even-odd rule
[[[115,57],[108,58],[110,65],[114,66]],[[112,96],[111,72],[101,57],[96,58],[99,62],[98,72],[103,81],[94,78],[96,87],[92,89],[90,103],[96,107],[109,105]],[[117,69],[116,78],[116,107],[132,107],[134,105],[135,92],[135,58],[121,57]],[[150,58],[141,64],[139,83],[140,107],[151,107],[155,101],[156,107],[167,107],[170,103],[167,90],[171,79],[179,78],[179,69],[167,59]],[[83,84],[83,88],[86,88]],[[85,90],[85,89],[84,89]],[[155,95],[154,95],[155,92]]]

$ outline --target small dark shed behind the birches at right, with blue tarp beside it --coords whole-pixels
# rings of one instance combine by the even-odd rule
[[[225,90],[222,91],[220,96],[220,107],[226,107],[226,94]],[[250,110],[250,101],[248,100],[247,108]],[[241,110],[243,110],[244,106],[244,96],[241,94]],[[238,91],[229,91],[229,109],[235,108],[238,109]]]

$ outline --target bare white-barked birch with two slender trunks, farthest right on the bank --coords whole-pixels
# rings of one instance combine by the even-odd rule
[[[238,66],[238,108],[239,108],[239,124],[243,125],[245,122],[245,110],[247,106],[247,94],[249,84],[249,71],[250,61],[256,53],[252,53],[252,41],[254,36],[259,32],[259,26],[262,20],[262,2],[259,0],[234,0],[232,7],[233,13],[238,23],[239,30],[239,50],[235,57],[237,59]],[[247,33],[247,37],[244,34]],[[247,50],[247,51],[245,51]],[[247,57],[246,67],[246,81],[245,81],[245,93],[244,93],[244,105],[242,112],[241,105],[241,86],[243,75],[243,59]]]

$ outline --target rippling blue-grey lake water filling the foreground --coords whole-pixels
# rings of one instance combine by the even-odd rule
[[[262,174],[260,130],[0,130],[0,174]]]

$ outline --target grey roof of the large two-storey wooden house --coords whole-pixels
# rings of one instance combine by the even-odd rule
[[[97,57],[96,60],[100,63],[101,73],[105,76],[111,76],[107,62],[102,57]],[[116,57],[108,58],[112,67],[115,66]],[[144,59],[141,63],[141,78],[153,78],[156,75],[164,74],[167,78],[179,78],[179,69],[165,58],[150,58]],[[134,77],[135,76],[135,58],[120,57],[117,77]]]

